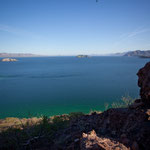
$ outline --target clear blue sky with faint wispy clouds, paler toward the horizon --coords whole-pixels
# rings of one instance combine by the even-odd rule
[[[150,49],[150,0],[0,0],[0,52]]]

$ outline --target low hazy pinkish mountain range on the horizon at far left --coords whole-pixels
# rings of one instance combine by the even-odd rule
[[[30,53],[0,53],[0,57],[42,57],[42,55]]]

